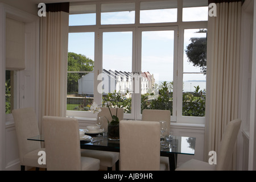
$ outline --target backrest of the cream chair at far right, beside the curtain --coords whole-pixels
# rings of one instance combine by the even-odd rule
[[[230,169],[232,154],[240,126],[241,119],[230,121],[226,126],[226,130],[221,139],[220,150],[217,152],[216,170],[228,171]]]

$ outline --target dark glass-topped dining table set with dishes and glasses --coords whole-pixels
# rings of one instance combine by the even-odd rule
[[[80,139],[81,149],[120,152],[119,140],[111,140],[103,135],[97,137],[98,133],[85,133],[85,135],[88,135],[89,137]],[[27,140],[44,142],[44,136],[38,135],[28,138]],[[196,138],[194,137],[173,136],[172,139],[166,140],[164,145],[160,144],[160,156],[168,157],[170,171],[174,171],[177,167],[178,154],[195,155],[195,143]]]

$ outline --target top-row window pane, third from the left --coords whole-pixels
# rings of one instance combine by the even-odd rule
[[[177,1],[141,2],[140,23],[177,22]]]

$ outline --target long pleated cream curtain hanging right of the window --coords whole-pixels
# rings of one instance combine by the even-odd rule
[[[217,16],[208,20],[207,75],[210,83],[205,123],[205,161],[218,151],[228,122],[238,118],[241,2],[216,3]],[[217,154],[218,157],[218,154]],[[232,169],[236,169],[236,150]]]

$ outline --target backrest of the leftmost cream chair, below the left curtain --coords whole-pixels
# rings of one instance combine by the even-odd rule
[[[25,154],[41,148],[40,142],[27,140],[39,135],[38,121],[35,111],[31,107],[14,109],[12,113],[19,146],[20,164],[23,165],[23,156]]]

